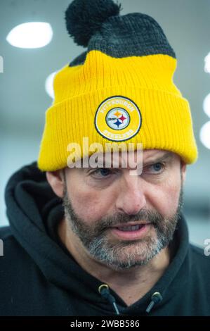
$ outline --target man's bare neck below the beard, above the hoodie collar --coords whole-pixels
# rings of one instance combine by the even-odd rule
[[[145,266],[135,266],[129,270],[113,270],[88,255],[65,218],[58,225],[58,235],[79,266],[109,285],[128,306],[143,297],[155,285],[170,263],[171,250],[167,246]]]

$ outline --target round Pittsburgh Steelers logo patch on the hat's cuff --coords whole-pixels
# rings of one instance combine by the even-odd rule
[[[126,96],[105,99],[96,111],[95,127],[103,137],[122,142],[140,130],[141,114],[138,106]]]

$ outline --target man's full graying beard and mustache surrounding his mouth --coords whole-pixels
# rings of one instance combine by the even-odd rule
[[[66,182],[63,206],[68,225],[92,258],[114,270],[129,270],[135,266],[146,265],[172,241],[183,207],[183,183],[181,183],[178,208],[170,218],[164,218],[157,211],[142,209],[136,215],[114,214],[88,225],[75,213],[67,194]],[[107,233],[110,231],[108,227],[139,220],[152,223],[150,227],[152,227],[153,235],[149,231],[143,239],[131,241],[119,239],[117,242],[116,239],[114,242],[110,239]]]

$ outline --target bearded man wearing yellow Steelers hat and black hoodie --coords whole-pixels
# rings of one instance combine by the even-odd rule
[[[2,316],[210,315],[210,262],[181,213],[197,146],[176,56],[153,18],[119,10],[66,11],[88,49],[55,77],[38,162],[6,187]]]

